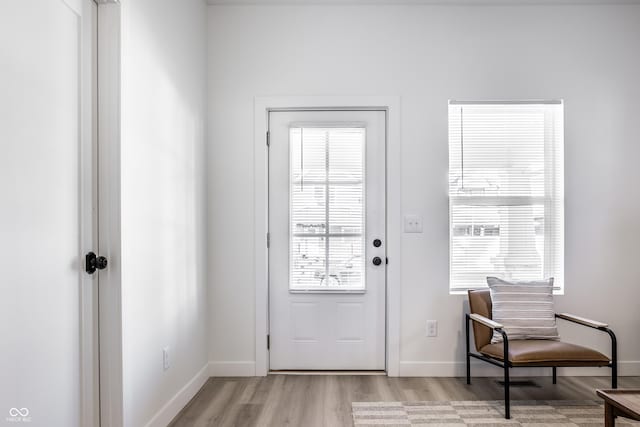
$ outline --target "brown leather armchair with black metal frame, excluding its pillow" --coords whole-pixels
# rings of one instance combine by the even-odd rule
[[[471,384],[471,358],[480,359],[504,369],[505,418],[510,416],[509,368],[550,367],[556,384],[558,366],[608,366],[611,368],[611,386],[618,387],[618,360],[616,336],[606,323],[571,314],[556,314],[556,318],[578,323],[606,332],[611,337],[611,358],[599,351],[555,340],[509,340],[503,326],[491,320],[491,293],[489,289],[469,291],[469,310],[466,315],[467,384]],[[473,321],[473,338],[477,353],[471,352],[469,325]],[[493,331],[502,335],[503,342],[491,344]],[[505,358],[504,355],[507,355]]]

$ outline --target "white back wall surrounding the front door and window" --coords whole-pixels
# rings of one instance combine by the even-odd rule
[[[639,6],[210,6],[209,358],[254,349],[253,100],[402,97],[403,375],[460,374],[466,297],[448,292],[447,100],[566,106],[566,294],[618,333],[640,372]],[[397,285],[397,284],[391,284]],[[439,321],[439,337],[424,336]],[[562,326],[608,351],[607,337]],[[603,375],[608,370],[602,370]]]

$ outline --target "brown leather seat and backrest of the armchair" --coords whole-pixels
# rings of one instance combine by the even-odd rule
[[[471,313],[491,319],[491,293],[488,289],[469,292]],[[504,360],[503,344],[491,344],[490,328],[473,322],[476,350],[485,356]],[[509,361],[514,366],[607,366],[604,354],[590,348],[553,340],[509,340]]]

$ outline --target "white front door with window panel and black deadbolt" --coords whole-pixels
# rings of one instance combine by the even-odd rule
[[[272,370],[385,369],[385,113],[269,113]]]

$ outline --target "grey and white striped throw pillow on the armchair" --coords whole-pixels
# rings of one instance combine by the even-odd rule
[[[532,282],[509,282],[487,277],[493,320],[504,326],[510,340],[557,340],[553,308],[553,277]],[[492,343],[502,342],[493,332]]]

